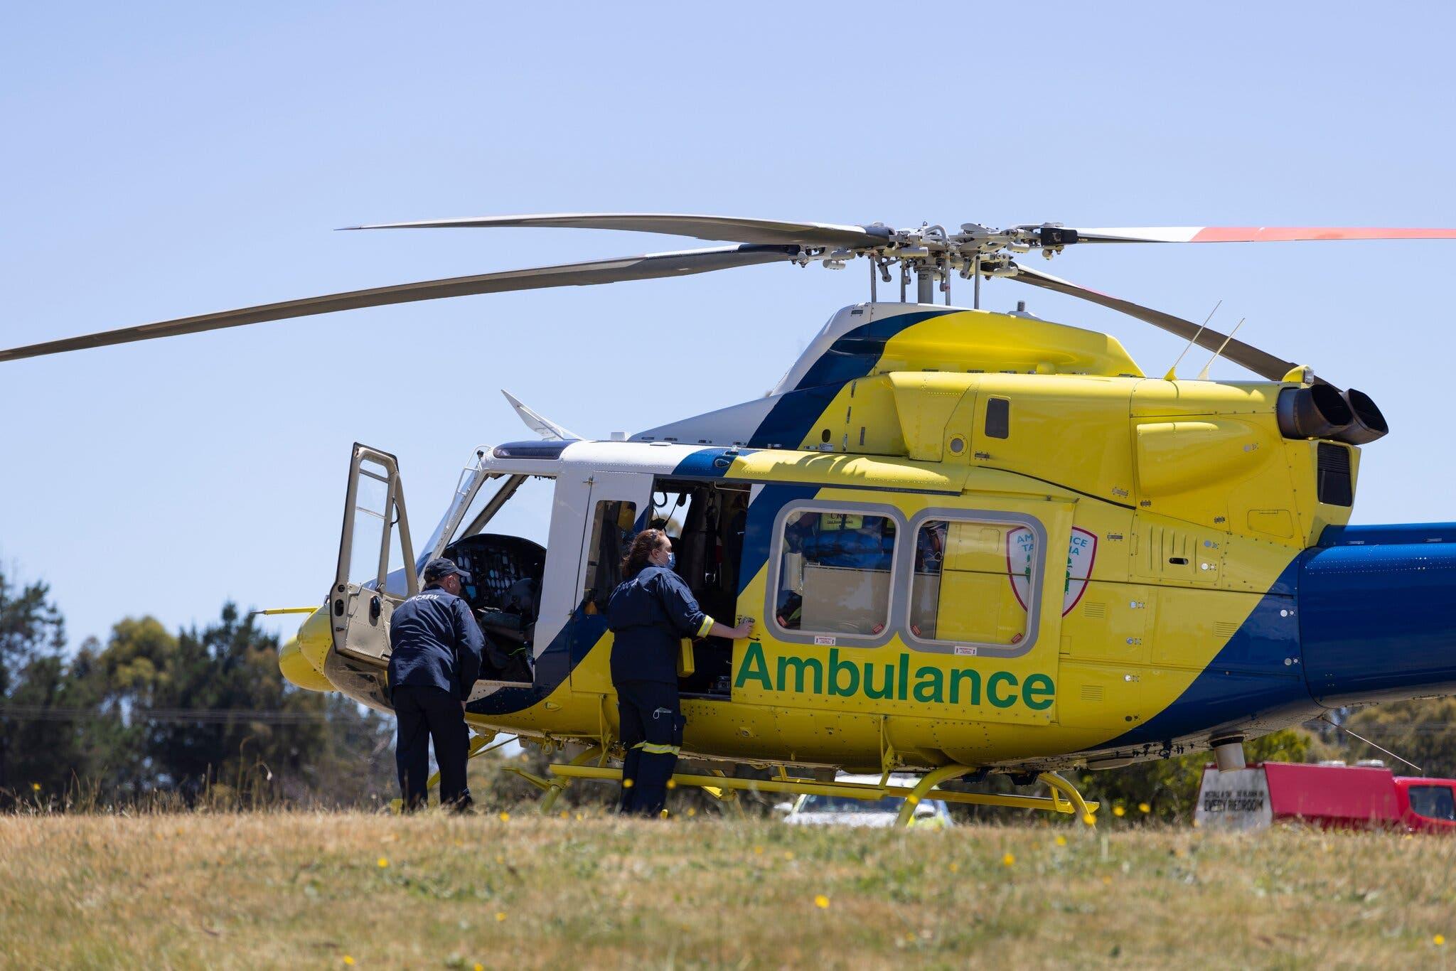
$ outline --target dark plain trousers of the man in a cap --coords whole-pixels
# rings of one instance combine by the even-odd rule
[[[438,687],[399,684],[390,694],[399,734],[395,738],[395,766],[405,811],[425,805],[430,782],[430,740],[435,742],[440,766],[440,805],[464,808],[470,790],[464,785],[464,763],[470,750],[470,729],[454,694]]]

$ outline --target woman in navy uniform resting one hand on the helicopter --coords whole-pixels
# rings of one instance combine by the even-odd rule
[[[753,620],[737,627],[716,623],[697,607],[687,584],[673,572],[673,543],[662,530],[642,530],[622,559],[626,578],[607,601],[613,633],[612,684],[622,721],[622,812],[665,812],[667,780],[683,745],[677,700],[677,655],[683,638],[732,638],[753,633]]]

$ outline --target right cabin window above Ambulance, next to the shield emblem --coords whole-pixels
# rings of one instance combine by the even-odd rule
[[[911,639],[958,646],[1024,643],[1040,587],[1037,546],[1038,533],[1025,523],[923,523],[916,530],[910,581]]]

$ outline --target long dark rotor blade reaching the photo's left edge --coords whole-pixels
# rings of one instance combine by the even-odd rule
[[[559,266],[508,269],[496,274],[479,274],[476,277],[425,280],[414,284],[374,287],[371,290],[351,290],[348,293],[328,294],[323,297],[306,297],[303,300],[266,303],[258,307],[204,313],[195,317],[162,320],[159,323],[144,323],[134,328],[102,330],[100,333],[87,333],[77,338],[47,341],[44,344],[32,344],[29,346],[0,351],[0,361],[17,361],[20,358],[39,357],[42,354],[63,354],[66,351],[80,351],[83,348],[130,344],[131,341],[170,338],[179,333],[198,333],[202,330],[218,330],[221,328],[239,328],[248,323],[264,323],[265,320],[287,320],[291,317],[307,317],[319,313],[335,313],[338,310],[357,310],[360,307],[383,307],[392,303],[414,303],[416,300],[467,297],[472,294],[505,293],[511,290],[584,287],[590,284],[619,282],[623,280],[655,280],[660,277],[703,274],[713,269],[731,269],[734,266],[753,266],[757,263],[789,261],[798,256],[798,246],[722,246],[712,249],[690,249],[677,253],[626,256],[622,259],[597,259],[584,263],[562,263]]]

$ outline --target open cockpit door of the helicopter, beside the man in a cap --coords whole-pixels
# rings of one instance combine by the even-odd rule
[[[383,667],[389,661],[389,619],[416,592],[399,461],[387,451],[355,443],[329,597],[333,649]]]

